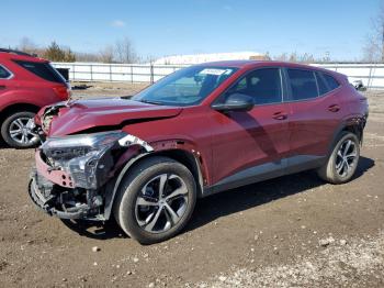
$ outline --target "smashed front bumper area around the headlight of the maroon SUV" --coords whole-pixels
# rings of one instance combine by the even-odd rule
[[[114,190],[118,166],[137,154],[153,151],[146,142],[127,134],[116,141],[113,148],[105,151],[105,155],[97,162],[94,176],[100,178],[98,186],[83,187],[77,184],[78,170],[75,175],[63,167],[52,166],[38,148],[35,153],[36,166],[31,173],[29,195],[35,206],[49,215],[105,221],[110,217],[109,206],[112,204],[111,193]],[[102,173],[101,168],[104,169]]]

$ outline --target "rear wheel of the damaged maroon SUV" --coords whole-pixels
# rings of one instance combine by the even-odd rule
[[[318,176],[330,184],[348,182],[358,167],[360,141],[351,132],[340,133],[328,160],[317,170]]]

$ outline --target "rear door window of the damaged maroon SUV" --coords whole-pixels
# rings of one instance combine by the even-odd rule
[[[318,97],[315,74],[310,70],[287,69],[293,100]]]

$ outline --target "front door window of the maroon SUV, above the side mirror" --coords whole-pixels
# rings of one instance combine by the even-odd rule
[[[253,98],[255,104],[280,103],[282,101],[280,68],[251,71],[228,92],[248,95]]]

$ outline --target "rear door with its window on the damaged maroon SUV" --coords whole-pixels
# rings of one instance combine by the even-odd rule
[[[327,154],[341,107],[337,97],[339,84],[331,76],[302,68],[286,68],[285,75],[292,110],[289,124],[291,166]],[[327,81],[328,77],[331,79]]]

